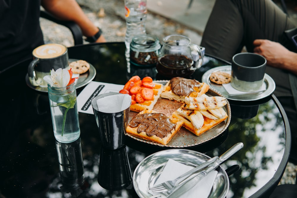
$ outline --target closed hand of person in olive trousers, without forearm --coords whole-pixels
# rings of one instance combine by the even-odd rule
[[[253,44],[254,53],[264,56],[267,65],[277,68],[283,68],[286,57],[292,53],[280,43],[266,39],[256,39]]]

